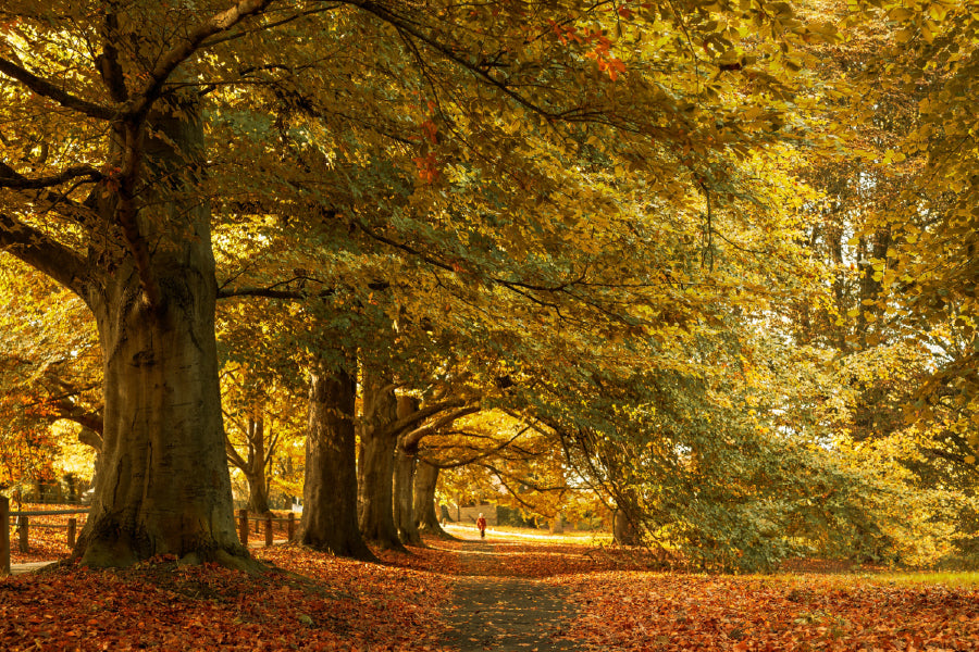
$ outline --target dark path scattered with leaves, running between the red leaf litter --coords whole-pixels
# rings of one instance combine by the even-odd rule
[[[559,638],[577,610],[561,587],[507,576],[507,555],[492,539],[467,540],[460,552],[462,576],[453,582],[446,610],[445,644],[459,652],[552,652],[581,650]]]

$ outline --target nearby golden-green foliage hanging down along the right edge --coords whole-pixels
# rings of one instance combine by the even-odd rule
[[[865,10],[875,17],[887,14],[899,27],[887,50],[893,67],[888,68],[880,92],[924,96],[913,128],[890,152],[892,160],[925,161],[891,211],[881,216],[895,238],[894,246],[878,256],[885,266],[880,283],[912,327],[924,331],[922,340],[935,336],[944,340],[939,368],[922,386],[916,412],[929,421],[931,404],[944,400],[954,405],[957,414],[950,428],[968,439],[971,451],[965,457],[975,464],[979,149],[970,137],[976,110],[969,98],[976,89],[979,22],[966,5],[955,3],[921,12],[892,3]],[[882,59],[875,61],[872,71],[888,65]]]

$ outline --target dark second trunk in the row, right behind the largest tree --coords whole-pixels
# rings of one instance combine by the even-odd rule
[[[299,541],[340,556],[373,560],[357,527],[355,375],[322,360],[309,373],[309,431]]]

